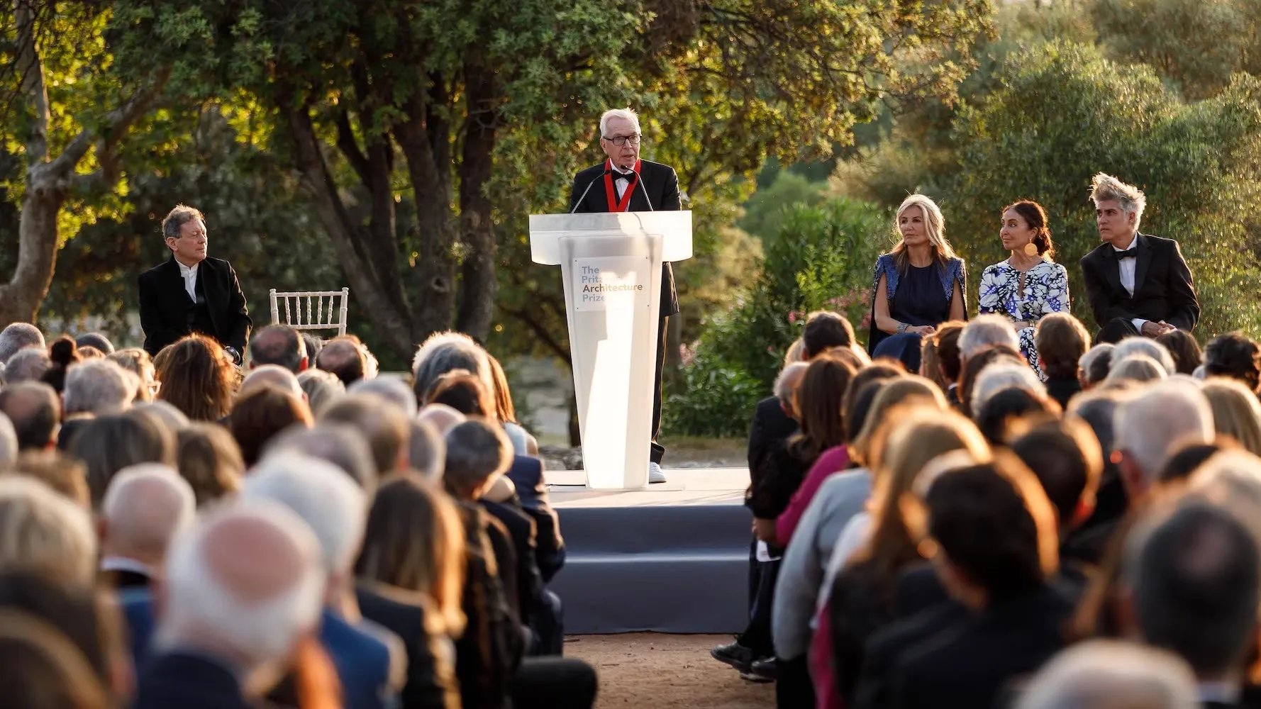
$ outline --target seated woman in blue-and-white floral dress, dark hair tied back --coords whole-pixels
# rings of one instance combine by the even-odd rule
[[[1043,315],[1068,312],[1068,271],[1052,261],[1050,228],[1042,204],[1020,201],[1004,209],[999,236],[1011,256],[981,274],[980,312],[1011,318],[1020,351],[1042,375],[1034,328]]]

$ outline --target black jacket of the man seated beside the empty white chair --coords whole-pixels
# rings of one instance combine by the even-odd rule
[[[245,356],[250,338],[250,312],[232,265],[222,259],[204,259],[197,279],[206,289],[206,307],[214,323],[212,336],[219,344],[233,347]],[[145,331],[145,351],[158,354],[163,347],[189,334],[188,308],[192,299],[179,275],[179,264],[168,259],[140,274],[140,328]]]

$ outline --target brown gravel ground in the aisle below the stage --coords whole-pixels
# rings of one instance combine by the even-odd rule
[[[710,657],[723,635],[623,633],[571,636],[565,655],[591,664],[600,677],[596,709],[769,709],[773,684],[740,679]]]

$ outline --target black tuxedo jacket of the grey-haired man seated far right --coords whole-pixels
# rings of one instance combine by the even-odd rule
[[[1192,284],[1190,269],[1182,257],[1178,242],[1140,233],[1134,269],[1134,296],[1121,285],[1121,269],[1111,243],[1101,243],[1082,257],[1086,296],[1091,302],[1098,327],[1122,318],[1132,320],[1164,320],[1190,332],[1199,320],[1199,303]]]

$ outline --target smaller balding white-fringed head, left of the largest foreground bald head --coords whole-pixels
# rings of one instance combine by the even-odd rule
[[[129,466],[110,479],[101,519],[111,553],[160,560],[175,532],[197,520],[197,495],[170,466]]]

